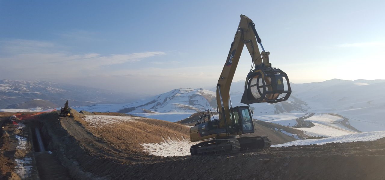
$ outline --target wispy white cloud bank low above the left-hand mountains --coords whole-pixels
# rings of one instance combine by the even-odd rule
[[[127,54],[83,53],[60,51],[61,46],[50,42],[33,40],[2,41],[0,49],[0,77],[12,79],[40,79],[46,77],[76,78],[89,74],[109,74],[121,64],[130,68],[130,63],[145,58],[166,55],[161,51],[145,51]],[[116,69],[116,68],[115,68]]]

